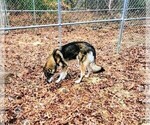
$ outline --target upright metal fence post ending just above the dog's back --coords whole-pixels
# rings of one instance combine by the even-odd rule
[[[58,0],[58,42],[59,47],[62,46],[62,14],[61,14],[61,0]]]

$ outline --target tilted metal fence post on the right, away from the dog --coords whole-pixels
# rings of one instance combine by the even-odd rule
[[[124,0],[122,17],[121,17],[121,26],[120,26],[120,31],[119,31],[119,40],[118,40],[118,43],[117,43],[117,53],[119,53],[120,47],[121,47],[121,42],[122,42],[122,37],[123,37],[123,30],[124,30],[124,23],[125,23],[125,17],[126,17],[126,13],[127,13],[127,8],[128,8],[128,0]]]

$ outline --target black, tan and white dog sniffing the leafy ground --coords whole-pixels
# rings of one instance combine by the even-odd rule
[[[43,68],[47,82],[50,83],[53,80],[53,75],[58,66],[62,67],[62,71],[56,83],[65,79],[67,76],[67,62],[73,59],[78,60],[81,70],[80,78],[76,80],[75,83],[80,83],[84,76],[88,77],[90,75],[91,71],[104,71],[102,67],[95,64],[96,51],[91,44],[83,41],[71,42],[62,46],[61,49],[55,49],[52,54],[49,55]]]

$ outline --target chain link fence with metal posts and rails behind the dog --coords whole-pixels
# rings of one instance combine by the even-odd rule
[[[120,50],[124,26],[146,25],[148,0],[2,0],[5,27],[16,30],[58,26],[61,46],[65,25],[115,22],[119,30]],[[118,25],[119,24],[119,25]],[[119,27],[120,26],[120,27]]]

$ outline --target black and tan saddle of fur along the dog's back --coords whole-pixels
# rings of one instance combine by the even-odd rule
[[[61,48],[61,53],[65,60],[76,59],[77,55],[80,53],[86,55],[90,51],[93,53],[94,58],[96,58],[96,52],[94,47],[83,41],[71,42]]]

